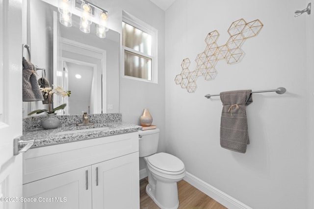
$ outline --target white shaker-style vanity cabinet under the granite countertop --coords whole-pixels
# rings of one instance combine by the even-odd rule
[[[138,159],[137,132],[30,149],[23,208],[139,209]]]

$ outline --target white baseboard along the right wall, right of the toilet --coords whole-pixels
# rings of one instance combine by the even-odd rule
[[[186,176],[184,177],[184,181],[189,183],[190,185],[196,187],[200,191],[207,194],[209,197],[227,207],[228,209],[252,209],[249,206],[241,203],[235,198],[229,196],[228,194],[220,191],[219,189],[207,184],[201,179],[193,176],[192,174],[186,172]]]

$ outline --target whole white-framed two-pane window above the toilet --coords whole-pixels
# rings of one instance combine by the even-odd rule
[[[122,22],[124,76],[157,83],[157,30],[126,12]]]

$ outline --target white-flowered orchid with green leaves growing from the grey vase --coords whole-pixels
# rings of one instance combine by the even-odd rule
[[[50,99],[52,99],[52,95],[55,93],[57,95],[61,95],[63,98],[65,96],[70,96],[71,91],[64,91],[62,87],[57,86],[55,87],[54,85],[52,85],[53,88],[51,87],[46,87],[46,88],[39,88],[42,92],[44,92],[44,96],[46,96],[48,98],[48,110],[34,110],[30,113],[28,113],[27,115],[30,116],[32,114],[40,114],[40,113],[48,113],[48,114],[53,114],[55,111],[57,110],[63,110],[67,104],[62,104],[56,108],[53,108],[53,102],[50,101]],[[50,104],[52,104],[52,108],[50,107]]]

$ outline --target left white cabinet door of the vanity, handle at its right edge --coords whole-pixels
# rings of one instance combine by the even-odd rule
[[[23,196],[24,209],[91,209],[91,166],[25,184]]]

